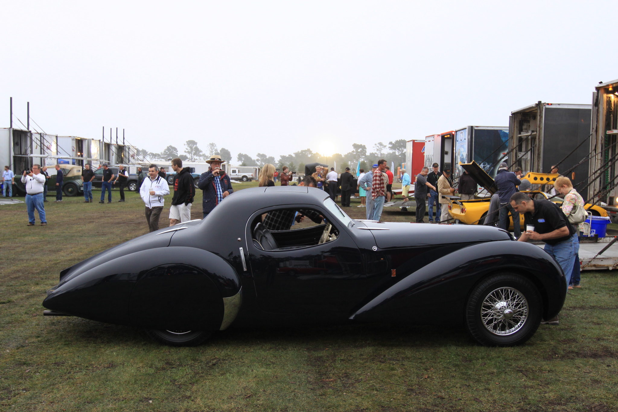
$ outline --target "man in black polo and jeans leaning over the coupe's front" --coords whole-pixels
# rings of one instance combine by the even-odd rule
[[[575,257],[579,251],[579,241],[573,226],[569,224],[560,207],[549,200],[533,200],[520,191],[510,196],[510,205],[515,211],[523,213],[526,231],[519,237],[520,242],[543,240],[544,250],[562,267],[569,287],[569,280]],[[558,324],[558,318],[545,323]]]

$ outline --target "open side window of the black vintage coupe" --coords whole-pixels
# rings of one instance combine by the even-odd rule
[[[253,245],[261,250],[289,250],[332,242],[339,231],[312,208],[266,211],[252,222]]]

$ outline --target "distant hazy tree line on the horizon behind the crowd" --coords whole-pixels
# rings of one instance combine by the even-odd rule
[[[274,156],[268,156],[264,153],[257,153],[254,158],[248,154],[239,153],[236,156],[236,161],[234,161],[232,153],[226,148],[218,148],[216,143],[208,143],[206,149],[202,150],[198,146],[197,141],[187,140],[185,141],[184,153],[180,153],[176,147],[169,145],[161,153],[138,149],[137,155],[151,161],[169,161],[173,158],[180,158],[188,162],[203,162],[213,154],[219,154],[222,159],[236,166],[263,166],[266,163],[270,163],[274,164],[277,169],[287,166],[293,172],[298,171],[300,173],[304,172],[305,164],[307,163],[320,162],[328,164],[329,167],[336,163],[337,172],[341,173],[346,167],[356,170],[358,162],[360,162],[362,169],[368,170],[379,159],[386,159],[389,164],[394,162],[397,166],[405,162],[405,145],[406,141],[404,139],[389,141],[388,145],[384,145],[380,141],[373,145],[372,151],[368,152],[365,145],[352,143],[352,150],[345,154],[334,153],[326,156],[311,149],[303,149],[292,154],[279,156],[278,160]]]

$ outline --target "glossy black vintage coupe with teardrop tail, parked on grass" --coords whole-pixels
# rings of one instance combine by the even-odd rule
[[[464,324],[478,343],[510,346],[565,294],[556,261],[504,230],[355,221],[322,190],[277,186],[64,269],[43,306],[174,346],[231,325],[344,322]]]

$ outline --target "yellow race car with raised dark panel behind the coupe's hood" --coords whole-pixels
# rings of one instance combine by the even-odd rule
[[[468,174],[472,176],[472,178],[481,185],[481,187],[485,188],[485,190],[490,193],[490,195],[486,198],[475,199],[475,200],[458,200],[456,198],[449,199],[449,212],[451,212],[451,216],[454,219],[457,219],[460,223],[468,224],[468,225],[478,225],[483,224],[485,222],[485,217],[487,216],[487,212],[489,211],[489,200],[491,199],[491,195],[494,195],[497,191],[496,183],[493,179],[485,172],[485,170],[481,169],[476,162],[460,164],[465,170],[468,171]],[[559,174],[541,174],[541,173],[528,173],[525,175],[525,179],[528,179],[533,185],[540,184],[553,184],[558,177]],[[538,199],[547,199],[547,193],[544,193],[541,190],[522,190],[523,193],[528,193],[531,198],[535,200]],[[561,198],[553,198],[552,202],[556,204],[562,204]],[[607,215],[607,211],[600,206],[591,206],[589,203],[584,205],[584,209],[590,209],[590,212],[593,216],[609,216]],[[497,213],[494,216],[495,221],[497,221]],[[509,215],[509,229],[513,229],[513,219]],[[520,228],[523,230],[523,214],[519,214],[519,224]]]

